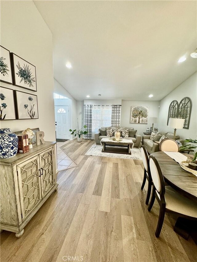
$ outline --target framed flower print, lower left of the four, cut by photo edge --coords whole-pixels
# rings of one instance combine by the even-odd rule
[[[15,120],[14,91],[0,87],[0,120]]]

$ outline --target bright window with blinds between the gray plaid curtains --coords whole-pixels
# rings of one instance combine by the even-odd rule
[[[111,126],[111,106],[94,105],[92,108],[92,131]]]

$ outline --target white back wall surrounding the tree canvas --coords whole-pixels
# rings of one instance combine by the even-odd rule
[[[138,124],[130,123],[131,116],[131,106],[149,106],[148,113],[148,123],[147,124]],[[146,132],[147,127],[150,129],[152,123],[150,122],[150,117],[158,117],[159,115],[159,101],[123,101],[122,100],[122,109],[121,109],[121,127],[133,127],[137,129],[139,135],[144,135],[143,132]],[[158,127],[158,124],[154,124],[154,127]]]

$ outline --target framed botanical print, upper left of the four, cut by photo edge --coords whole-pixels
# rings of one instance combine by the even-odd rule
[[[10,51],[0,45],[0,81],[6,84],[13,84]]]

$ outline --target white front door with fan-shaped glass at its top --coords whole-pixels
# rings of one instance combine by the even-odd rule
[[[56,138],[69,139],[69,106],[55,106]]]

